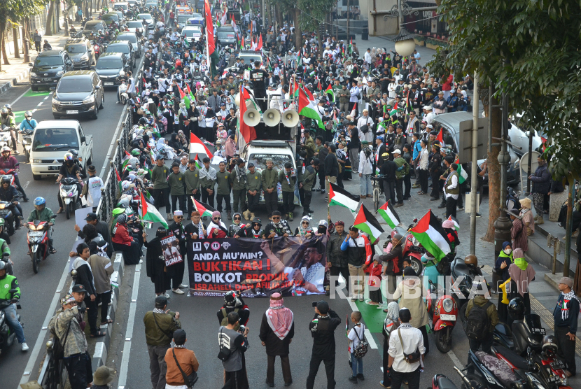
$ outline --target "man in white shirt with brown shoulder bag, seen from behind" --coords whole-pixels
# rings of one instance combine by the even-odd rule
[[[389,337],[387,366],[391,373],[391,389],[400,389],[403,381],[407,381],[408,389],[419,389],[420,371],[423,368],[423,354],[426,353],[426,348],[423,346],[421,331],[409,324],[411,319],[409,309],[405,307],[400,309],[400,327]],[[409,355],[417,352],[421,355],[420,360],[414,363],[405,361],[404,353]]]

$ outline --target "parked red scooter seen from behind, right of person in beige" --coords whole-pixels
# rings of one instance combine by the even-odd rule
[[[435,336],[436,348],[440,353],[447,353],[452,346],[452,330],[456,325],[456,318],[458,317],[458,306],[454,299],[449,295],[437,297],[437,288],[430,283],[430,290],[428,290],[427,302],[428,313],[432,317],[432,324],[430,329]]]

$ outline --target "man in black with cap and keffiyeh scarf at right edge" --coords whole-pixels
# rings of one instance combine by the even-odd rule
[[[580,312],[580,303],[573,288],[573,279],[563,277],[559,281],[561,295],[553,311],[555,320],[555,337],[559,346],[559,356],[565,360],[566,376],[575,376],[575,332],[577,332],[577,318]]]

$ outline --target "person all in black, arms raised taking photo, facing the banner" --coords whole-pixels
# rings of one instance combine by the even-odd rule
[[[313,337],[313,349],[307,389],[313,389],[315,377],[321,361],[325,363],[327,373],[327,388],[335,388],[335,329],[341,324],[341,319],[329,308],[329,303],[320,301],[313,303],[315,316],[309,323],[309,330]]]

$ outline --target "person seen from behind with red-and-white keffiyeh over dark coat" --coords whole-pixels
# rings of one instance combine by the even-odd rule
[[[276,355],[281,358],[282,376],[285,386],[293,383],[288,361],[289,344],[295,336],[295,321],[293,311],[284,306],[282,295],[278,292],[270,296],[270,307],[262,315],[260,324],[260,341],[266,348],[267,369],[266,383],[274,387],[274,361]]]

